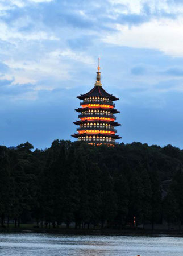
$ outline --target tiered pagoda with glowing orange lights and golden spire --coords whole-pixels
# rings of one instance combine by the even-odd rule
[[[119,99],[102,88],[99,59],[97,69],[97,81],[94,88],[88,93],[77,96],[78,99],[82,100],[81,108],[75,109],[80,113],[78,115],[80,120],[73,122],[79,127],[77,128],[78,133],[73,134],[72,137],[78,138],[78,141],[86,141],[91,145],[114,146],[115,140],[121,138],[116,135],[115,126],[120,124],[115,122],[116,117],[114,115],[120,112],[114,109],[115,104],[113,103]]]

